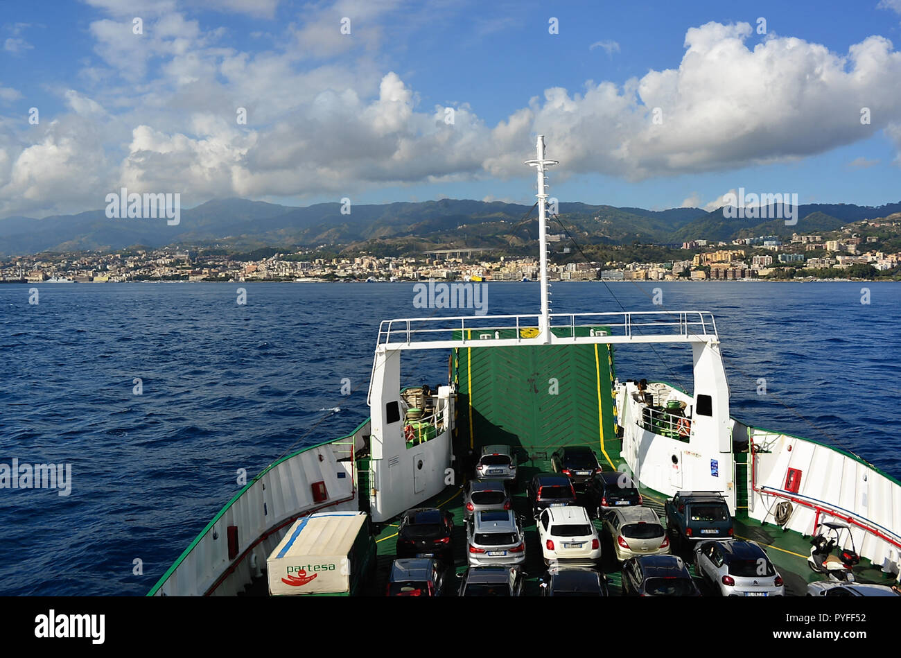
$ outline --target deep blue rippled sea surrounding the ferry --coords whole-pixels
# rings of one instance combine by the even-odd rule
[[[539,310],[535,283],[487,292],[489,314]],[[733,416],[901,477],[901,286],[573,282],[552,292],[554,312],[713,312]],[[378,323],[432,313],[413,299],[410,283],[0,286],[0,463],[71,464],[68,496],[0,489],[0,595],[146,593],[241,488],[238,470],[250,478],[369,416]],[[623,379],[691,388],[686,346],[619,348],[615,359]],[[447,355],[412,355],[403,375],[446,383]]]

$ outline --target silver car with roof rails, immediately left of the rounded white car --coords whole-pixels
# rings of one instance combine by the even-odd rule
[[[483,509],[471,516],[466,543],[470,566],[525,562],[522,524],[510,509]]]

